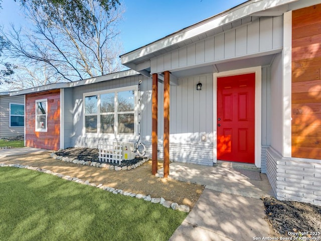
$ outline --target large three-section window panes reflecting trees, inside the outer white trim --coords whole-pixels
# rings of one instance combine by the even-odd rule
[[[135,86],[85,93],[85,132],[134,135],[136,118],[135,94]]]

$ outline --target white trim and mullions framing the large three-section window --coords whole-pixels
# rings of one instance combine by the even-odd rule
[[[117,101],[117,93],[127,90],[134,90],[134,133],[133,134],[119,134],[118,133],[118,118],[117,116],[114,117],[114,133],[100,133],[100,95],[101,94],[108,94],[108,93],[115,93],[115,109],[118,109],[118,101]],[[109,139],[136,139],[137,137],[137,125],[138,125],[138,96],[137,96],[137,85],[131,85],[126,87],[120,87],[120,88],[112,88],[108,90],[99,90],[99,91],[92,91],[83,93],[83,123],[82,123],[82,135],[84,137],[104,137]],[[97,95],[97,133],[86,133],[86,124],[85,124],[85,116],[87,115],[95,115],[95,114],[85,114],[85,97]],[[126,112],[114,112],[114,115],[116,113],[126,113]]]

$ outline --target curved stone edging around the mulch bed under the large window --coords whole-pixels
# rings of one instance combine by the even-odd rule
[[[62,160],[64,162],[72,162],[74,164],[80,164],[80,165],[84,165],[84,166],[102,167],[102,168],[106,168],[106,169],[109,169],[109,170],[115,170],[115,171],[135,169],[135,168],[141,166],[142,164],[144,164],[148,160],[148,159],[142,159],[140,162],[137,162],[134,165],[118,167],[118,166],[115,166],[115,165],[109,165],[108,163],[91,162],[91,161],[85,162],[83,160],[78,160],[78,159],[75,159],[75,158],[58,156],[54,152],[50,154],[50,157],[54,158],[54,159],[57,159],[57,160]]]

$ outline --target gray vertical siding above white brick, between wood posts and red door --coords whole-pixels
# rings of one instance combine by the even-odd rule
[[[202,83],[202,90],[196,84]],[[158,84],[158,139],[164,133],[164,85]],[[213,74],[179,79],[178,86],[170,87],[170,142],[213,144]],[[150,135],[150,134],[149,134]],[[205,144],[205,143],[203,143]]]

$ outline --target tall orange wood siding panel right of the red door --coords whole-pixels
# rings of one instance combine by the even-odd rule
[[[292,13],[292,157],[321,159],[321,4]]]

